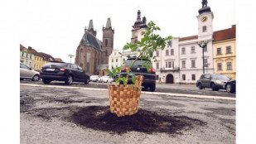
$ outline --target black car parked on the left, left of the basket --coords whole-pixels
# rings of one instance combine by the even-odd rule
[[[44,65],[40,72],[44,84],[52,80],[65,81],[65,84],[84,82],[89,84],[89,74],[85,73],[80,66],[64,62],[50,62]]]

